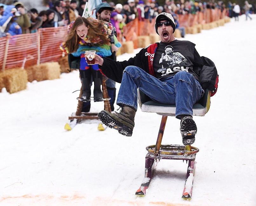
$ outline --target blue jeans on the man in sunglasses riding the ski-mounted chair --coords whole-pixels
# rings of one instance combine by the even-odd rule
[[[176,104],[176,117],[181,114],[192,116],[193,105],[204,94],[200,83],[186,71],[180,71],[161,81],[141,68],[128,66],[123,73],[117,105],[125,104],[137,109],[138,88],[158,103]]]

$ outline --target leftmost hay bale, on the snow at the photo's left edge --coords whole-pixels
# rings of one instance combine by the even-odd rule
[[[6,91],[9,93],[15,93],[26,89],[28,83],[27,72],[21,68],[5,70],[2,72],[1,79],[3,80],[1,85],[4,85]]]

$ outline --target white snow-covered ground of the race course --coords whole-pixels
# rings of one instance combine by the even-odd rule
[[[255,205],[256,15],[252,17],[245,21],[242,15],[239,22],[232,19],[182,39],[194,42],[219,73],[210,111],[194,117],[194,146],[200,151],[190,202],[181,199],[187,164],[178,160],[161,160],[147,195],[134,195],[144,178],[145,147],[156,142],[160,115],[138,109],[132,137],[109,128],[98,131],[99,120],[64,130],[77,107],[79,92],[72,92],[81,86],[73,71],[57,80],[28,83],[18,93],[0,93],[0,205]],[[99,112],[103,103],[91,107]],[[162,143],[182,144],[178,119],[168,117]]]

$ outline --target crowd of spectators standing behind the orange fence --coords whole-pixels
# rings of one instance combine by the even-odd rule
[[[106,2],[103,0],[103,2]],[[37,32],[39,28],[67,26],[78,16],[83,15],[86,0],[64,0],[49,1],[49,9],[38,12],[37,9],[28,9],[22,2],[14,0],[12,5],[1,5],[0,7],[0,37],[8,35],[18,35]],[[240,14],[246,14],[246,20],[251,19],[250,14],[255,13],[255,5],[238,5],[229,2],[226,5],[219,1],[218,3],[194,2],[192,0],[165,0],[164,5],[160,5],[156,0],[128,0],[123,5],[109,2],[114,8],[110,22],[116,27],[117,34],[121,35],[124,26],[133,19],[140,21],[151,21],[161,12],[171,13],[174,16],[176,26],[179,29],[178,15],[196,14],[206,9],[227,9],[229,17],[235,17],[238,20]],[[178,15],[177,15],[178,14]],[[182,29],[182,28],[180,28]]]

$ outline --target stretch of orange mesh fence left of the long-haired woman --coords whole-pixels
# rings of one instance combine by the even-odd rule
[[[2,70],[29,67],[48,61],[58,61],[60,44],[67,35],[65,27],[38,29],[37,33],[3,37],[0,40]]]

